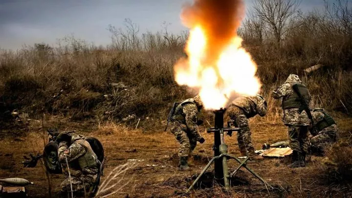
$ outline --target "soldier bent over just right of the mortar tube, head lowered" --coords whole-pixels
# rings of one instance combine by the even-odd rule
[[[264,157],[254,153],[251,140],[251,132],[248,126],[248,118],[259,114],[266,114],[266,101],[263,96],[242,96],[236,98],[227,109],[229,117],[235,121],[241,131],[237,133],[237,141],[242,155],[247,155],[253,160],[263,160]]]

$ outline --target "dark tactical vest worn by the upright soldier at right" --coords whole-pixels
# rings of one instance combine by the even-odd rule
[[[298,90],[300,91],[301,95],[303,98],[309,103],[309,91],[308,88],[301,84],[301,83],[290,83],[291,86],[297,84]],[[282,101],[282,108],[284,110],[287,109],[301,109],[302,107],[302,102],[300,100],[300,97],[296,93],[296,91],[293,90],[292,95],[288,96],[287,98],[284,98]]]

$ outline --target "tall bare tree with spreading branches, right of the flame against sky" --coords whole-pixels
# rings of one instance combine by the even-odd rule
[[[295,16],[300,3],[300,0],[256,0],[253,6],[254,16],[267,23],[280,44],[290,18]]]

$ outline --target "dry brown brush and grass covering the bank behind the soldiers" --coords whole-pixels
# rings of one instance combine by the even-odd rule
[[[273,32],[265,26],[259,39],[250,30],[241,30],[243,44],[258,64],[262,94],[268,100],[268,114],[262,120],[281,117],[280,101],[272,100],[271,92],[290,73],[307,84],[314,105],[352,111],[352,12],[342,8],[298,14],[280,41],[273,40]],[[173,73],[173,65],[184,56],[187,34],[170,34],[164,24],[161,32],[139,36],[138,26],[131,20],[125,22],[126,30],[110,26],[114,40],[109,47],[67,37],[57,48],[36,44],[16,52],[1,50],[0,114],[19,109],[35,115],[44,109],[76,120],[94,118],[99,123],[134,115],[125,124],[135,125],[141,119],[140,127],[161,129],[155,123],[166,119],[172,103],[192,96],[176,84]],[[304,71],[314,65],[320,68]]]

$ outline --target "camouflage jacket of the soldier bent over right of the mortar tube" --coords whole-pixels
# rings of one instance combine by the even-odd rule
[[[227,113],[230,117],[238,114],[244,114],[246,118],[254,117],[257,114],[264,116],[266,106],[263,100],[258,99],[257,96],[242,96],[232,101],[227,108]]]

